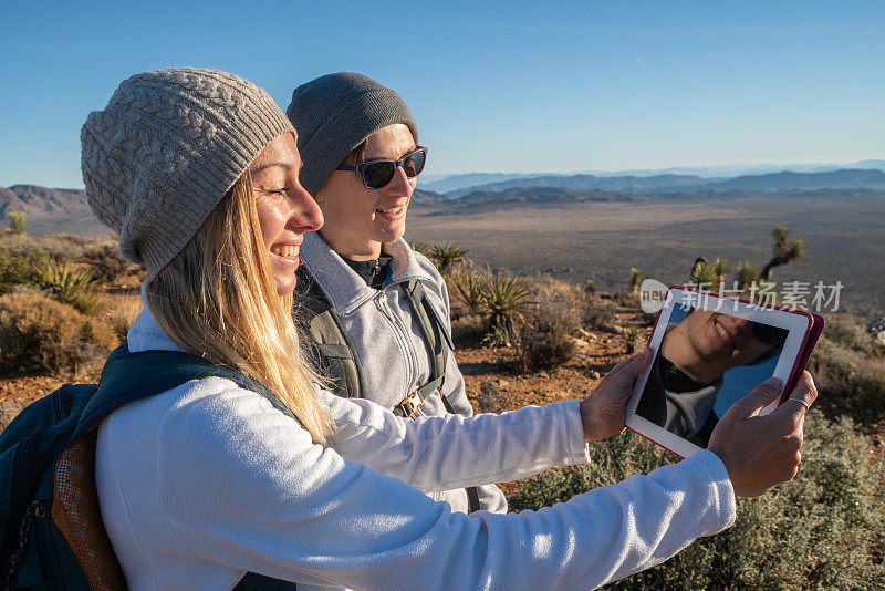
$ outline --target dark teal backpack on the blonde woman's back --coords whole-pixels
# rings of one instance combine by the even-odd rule
[[[190,380],[227,377],[292,414],[268,390],[229,367],[174,351],[107,359],[98,384],[65,384],[22,411],[0,434],[2,589],[126,589],[95,489],[98,424],[125,404]],[[237,589],[294,589],[249,573]]]

